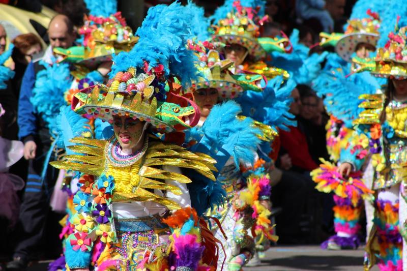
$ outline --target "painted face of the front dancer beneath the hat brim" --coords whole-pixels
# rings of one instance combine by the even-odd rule
[[[116,116],[113,119],[114,135],[122,149],[131,149],[135,152],[137,143],[143,134],[144,122],[125,116]]]

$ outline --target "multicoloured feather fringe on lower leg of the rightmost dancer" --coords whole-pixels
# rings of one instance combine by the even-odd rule
[[[398,225],[398,203],[389,200],[378,199],[375,201],[376,216],[373,223],[377,227],[376,235],[379,247],[379,259],[377,264],[382,271],[403,269],[402,265],[402,236]]]

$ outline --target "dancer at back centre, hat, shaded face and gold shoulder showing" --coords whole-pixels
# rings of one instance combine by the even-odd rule
[[[263,24],[268,20],[265,5],[265,1],[245,1],[244,5],[239,0],[225,1],[211,17],[214,22],[211,40],[225,58],[235,63],[234,73],[246,71],[266,78],[283,75],[287,79],[289,74],[285,70],[269,67],[265,62],[267,53],[289,53],[293,49],[285,35],[261,37]]]

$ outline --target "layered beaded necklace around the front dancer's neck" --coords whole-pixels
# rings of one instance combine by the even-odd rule
[[[107,157],[109,163],[115,167],[128,167],[137,162],[146,153],[149,146],[149,139],[146,136],[144,144],[141,149],[137,150],[129,155],[123,155],[120,153],[121,146],[117,138],[113,135],[106,144],[105,157]]]

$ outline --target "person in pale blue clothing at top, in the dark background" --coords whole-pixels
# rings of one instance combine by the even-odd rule
[[[296,13],[300,20],[308,20],[311,18],[319,20],[323,26],[324,32],[332,32],[334,29],[334,20],[331,14],[327,10],[329,6],[333,12],[336,5],[328,4],[329,1],[340,1],[340,0],[297,0],[296,2]],[[337,15],[337,13],[335,13]]]

